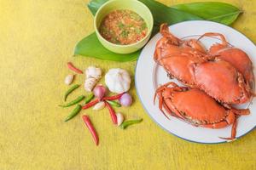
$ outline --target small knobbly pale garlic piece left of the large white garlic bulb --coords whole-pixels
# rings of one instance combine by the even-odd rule
[[[85,75],[84,89],[91,92],[96,83],[102,77],[102,70],[100,68],[96,68],[95,66],[90,66],[86,69]]]

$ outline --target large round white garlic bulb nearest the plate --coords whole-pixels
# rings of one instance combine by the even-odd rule
[[[131,77],[123,69],[110,69],[105,75],[105,83],[111,92],[121,94],[130,89]]]

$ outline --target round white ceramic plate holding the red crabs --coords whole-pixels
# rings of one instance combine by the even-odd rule
[[[239,31],[236,31],[229,26],[224,26],[211,21],[186,21],[170,26],[169,28],[175,36],[184,39],[191,37],[197,38],[205,32],[222,33],[231,45],[244,50],[250,56],[250,59],[253,61],[253,65],[256,65],[256,47],[253,42],[242,35]],[[148,115],[152,117],[154,122],[160,125],[160,127],[163,127],[167,132],[172,133],[181,139],[203,144],[218,144],[227,142],[226,140],[218,137],[230,137],[231,126],[222,129],[210,129],[204,127],[194,127],[178,120],[175,117],[171,117],[171,120],[168,120],[160,112],[158,105],[154,105],[153,98],[155,88],[166,82],[177,82],[176,80],[170,80],[166,76],[166,71],[164,71],[160,65],[156,65],[154,62],[154,48],[160,37],[160,33],[155,35],[148,42],[145,48],[143,48],[142,54],[137,60],[135,82],[137,94],[143,103],[144,109],[148,112]],[[208,48],[212,45],[212,43],[220,41],[218,38],[205,37],[201,39],[201,42],[203,42],[203,44]],[[256,75],[255,70],[253,70],[253,73]],[[238,119],[238,127],[236,130],[237,139],[256,127],[255,98],[250,105],[241,105],[240,107],[248,107],[251,114],[249,116],[241,116]]]

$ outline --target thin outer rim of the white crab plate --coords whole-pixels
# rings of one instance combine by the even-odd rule
[[[228,28],[232,29],[233,31],[236,31],[236,33],[240,34],[242,37],[247,38],[247,39],[248,39],[250,42],[252,42],[253,45],[255,46],[255,43],[254,43],[250,38],[248,38],[248,37],[246,37],[244,34],[242,34],[240,31],[237,31],[236,29],[232,28],[231,26],[226,26],[226,25],[224,25],[224,24],[220,24],[220,23],[218,23],[218,22],[214,22],[214,21],[210,21],[210,20],[187,20],[187,21],[179,22],[179,23],[176,23],[176,24],[173,24],[173,25],[169,25],[168,28],[169,28],[170,26],[176,26],[176,25],[179,25],[179,24],[187,23],[187,22],[188,22],[188,23],[189,23],[189,22],[207,22],[207,23],[213,23],[213,24],[218,24],[218,25],[220,25],[220,26],[228,27]],[[158,32],[158,33],[159,33],[159,32]],[[155,34],[155,35],[156,35],[156,34]],[[154,36],[155,36],[155,35],[154,35]],[[151,37],[151,38],[152,38],[152,37]],[[151,38],[150,38],[150,39],[151,39]],[[149,41],[150,41],[150,40],[149,40]],[[148,44],[148,42],[147,42],[147,44]],[[144,50],[144,48],[143,48],[143,50]],[[143,50],[142,50],[142,51],[143,51]],[[142,54],[142,53],[141,53],[141,54]],[[170,134],[176,136],[176,137],[179,138],[179,139],[183,139],[183,140],[189,141],[189,142],[191,142],[191,143],[195,143],[195,144],[226,144],[226,143],[234,142],[234,141],[236,141],[237,139],[241,139],[243,136],[247,135],[247,133],[252,132],[252,131],[254,130],[254,128],[256,128],[256,125],[255,125],[253,128],[251,128],[250,130],[248,130],[247,133],[244,133],[244,134],[242,134],[241,136],[236,137],[236,139],[233,139],[233,140],[224,140],[224,141],[220,141],[220,142],[201,142],[201,141],[196,141],[196,140],[191,140],[191,139],[185,139],[185,138],[183,138],[183,137],[181,137],[181,136],[178,136],[178,135],[175,134],[175,133],[170,132],[168,129],[166,129],[166,127],[163,127],[159,122],[156,122],[156,120],[154,120],[154,117],[149,114],[148,109],[147,109],[147,108],[145,107],[145,105],[143,104],[142,99],[141,99],[141,96],[140,96],[140,94],[138,93],[138,90],[137,90],[137,89],[138,89],[138,88],[137,88],[137,64],[138,64],[139,59],[141,58],[141,54],[138,56],[137,63],[136,63],[136,66],[135,66],[135,78],[134,78],[134,82],[135,82],[136,93],[137,93],[138,99],[140,100],[140,103],[143,105],[144,110],[147,112],[147,115],[148,115],[159,127],[161,127],[161,128],[162,128],[164,131],[166,131],[167,133],[170,133]]]

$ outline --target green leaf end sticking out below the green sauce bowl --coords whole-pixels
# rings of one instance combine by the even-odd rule
[[[140,54],[137,51],[133,54],[115,54],[102,46],[102,43],[98,41],[96,33],[90,34],[88,37],[84,37],[75,47],[74,54],[94,57],[96,59],[106,59],[113,61],[132,61],[136,60]]]

